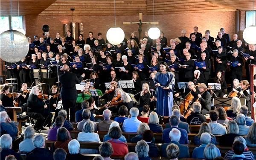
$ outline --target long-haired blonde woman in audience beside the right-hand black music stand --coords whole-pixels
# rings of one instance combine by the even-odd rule
[[[239,113],[239,108],[241,108],[241,102],[238,97],[233,97],[231,100],[231,106],[227,110],[227,116],[235,119],[237,114]]]

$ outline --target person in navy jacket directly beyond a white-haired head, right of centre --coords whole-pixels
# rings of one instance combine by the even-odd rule
[[[164,143],[169,143],[171,141],[171,139],[169,137],[169,133],[172,130],[172,128],[177,128],[178,130],[180,130],[180,133],[181,133],[179,143],[180,144],[188,144],[189,138],[188,138],[187,131],[185,129],[178,128],[179,122],[180,122],[180,119],[177,116],[172,115],[170,117],[171,128],[166,128],[163,130],[162,141]]]

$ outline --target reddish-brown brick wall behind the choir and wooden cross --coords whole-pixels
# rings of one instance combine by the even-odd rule
[[[116,26],[121,27],[125,32],[125,37],[129,38],[130,33],[138,32],[138,25],[123,25],[122,22],[138,21],[137,16],[116,16]],[[48,24],[50,26],[50,37],[55,37],[56,32],[63,35],[63,24],[71,22],[70,17],[61,16],[34,16],[26,15],[26,35],[33,36],[35,34],[42,35],[42,26]],[[106,39],[106,32],[113,26],[113,16],[73,16],[74,22],[82,22],[84,24],[84,38],[87,33],[92,31],[96,38],[98,32],[102,32],[103,38]],[[143,21],[153,21],[152,15],[143,15]],[[193,32],[193,27],[198,26],[199,32],[203,33],[209,29],[212,37],[216,37],[219,29],[224,27],[230,35],[235,32],[235,12],[205,12],[205,13],[181,13],[172,15],[155,15],[155,21],[159,21],[160,30],[165,33],[168,39],[180,36],[180,31],[185,29],[187,36]],[[151,25],[143,25],[143,32],[148,30]]]

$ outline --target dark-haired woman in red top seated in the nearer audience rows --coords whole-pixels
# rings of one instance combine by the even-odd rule
[[[119,140],[122,136],[121,128],[112,127],[109,130],[109,136],[111,137],[111,140],[108,140],[108,142],[112,144],[114,151],[112,156],[125,156],[128,154],[128,145]]]

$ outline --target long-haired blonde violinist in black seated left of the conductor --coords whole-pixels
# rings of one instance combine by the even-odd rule
[[[27,102],[27,115],[36,119],[35,122],[35,131],[38,131],[40,129],[46,130],[46,128],[43,127],[43,124],[48,117],[47,121],[50,122],[49,118],[52,117],[52,114],[48,112],[47,105],[44,103],[42,99],[38,98],[39,95],[39,88],[37,86],[32,87],[29,98]],[[48,124],[48,122],[45,122],[45,125]]]

